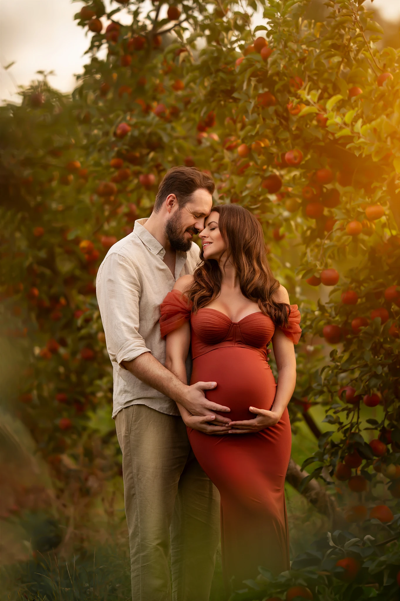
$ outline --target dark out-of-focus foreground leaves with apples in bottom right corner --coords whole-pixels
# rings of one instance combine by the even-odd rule
[[[286,599],[396,599],[400,553],[393,544],[396,537],[390,534],[398,532],[399,523],[393,524],[391,532],[375,522],[365,527],[384,540],[378,542],[371,534],[359,538],[346,531],[328,532],[309,551],[295,557],[288,572],[274,577],[260,567],[255,580],[246,581],[249,588],[233,594],[229,601],[255,601],[271,595],[280,599],[285,593]]]

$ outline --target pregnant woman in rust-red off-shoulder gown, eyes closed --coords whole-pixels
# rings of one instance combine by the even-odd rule
[[[271,273],[262,228],[252,213],[237,205],[214,207],[199,236],[203,262],[165,297],[160,327],[166,367],[186,383],[191,345],[190,383],[216,382],[207,398],[231,409],[223,414],[231,418],[228,425],[209,416],[200,431],[179,407],[198,462],[220,492],[229,593],[254,578],[258,566],[275,574],[289,569],[287,405],[295,386],[300,313]],[[267,362],[270,341],[277,385]]]

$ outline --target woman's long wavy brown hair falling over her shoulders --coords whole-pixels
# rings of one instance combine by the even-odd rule
[[[279,282],[274,278],[267,261],[264,236],[257,219],[250,211],[236,204],[221,204],[213,207],[219,213],[219,231],[225,242],[227,257],[239,276],[243,296],[258,303],[258,307],[277,326],[287,326],[290,307],[273,300]],[[193,311],[198,311],[219,296],[222,270],[215,259],[204,260],[193,273],[193,284],[186,296],[193,302]]]

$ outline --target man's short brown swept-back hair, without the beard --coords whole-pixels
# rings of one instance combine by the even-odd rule
[[[169,194],[175,194],[178,206],[182,209],[189,203],[193,192],[204,188],[213,194],[215,184],[211,175],[199,171],[195,167],[172,167],[164,175],[157,192],[154,212],[158,212]]]

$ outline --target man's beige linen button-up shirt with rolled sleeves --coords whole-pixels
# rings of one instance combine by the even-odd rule
[[[180,415],[175,401],[148,386],[123,367],[142,353],[165,364],[165,341],[160,334],[160,304],[181,275],[193,273],[199,247],[177,252],[175,276],[163,261],[165,249],[143,227],[147,219],[135,221],[132,234],[109,249],[96,279],[98,307],[106,334],[107,350],[114,371],[112,417],[134,404],[142,404],[169,415]],[[187,362],[190,370],[190,359]]]

